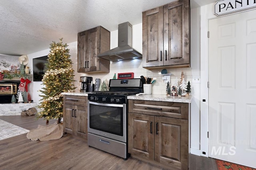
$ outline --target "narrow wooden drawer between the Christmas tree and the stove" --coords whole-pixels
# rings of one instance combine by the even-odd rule
[[[86,96],[64,95],[63,101],[64,104],[87,106],[87,99],[88,98]]]

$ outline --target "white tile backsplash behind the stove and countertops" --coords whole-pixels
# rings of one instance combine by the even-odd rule
[[[75,60],[72,59],[74,62]],[[73,68],[74,70],[77,70],[76,68],[76,62],[74,62]],[[79,82],[80,76],[92,76],[93,77],[93,83],[95,83],[96,78],[101,79],[101,84],[103,80],[112,79],[114,74],[116,73],[116,76],[118,73],[124,73],[124,72],[134,72],[134,78],[140,78],[140,76],[146,76],[150,78],[156,79],[156,82],[152,86],[152,94],[166,94],[166,85],[167,83],[162,80],[162,69],[154,69],[154,70],[147,70],[142,67],[142,59],[133,59],[133,60],[125,60],[125,61],[116,61],[116,62],[110,62],[110,72],[109,73],[75,73],[75,86],[76,92],[79,92],[81,83]],[[167,73],[172,73],[170,76],[171,85],[173,84],[175,78],[177,77],[178,80],[180,80],[181,72],[184,71],[184,77],[186,82],[192,80],[192,71],[191,68],[170,68],[166,69]]]

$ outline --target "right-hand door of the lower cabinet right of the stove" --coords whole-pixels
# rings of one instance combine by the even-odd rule
[[[155,160],[188,169],[188,120],[155,116]]]

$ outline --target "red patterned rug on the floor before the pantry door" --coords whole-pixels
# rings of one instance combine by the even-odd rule
[[[238,164],[234,164],[231,162],[226,162],[224,160],[218,160],[216,159],[216,164],[218,167],[218,170],[256,170],[254,168],[250,168],[247,166],[242,166]]]

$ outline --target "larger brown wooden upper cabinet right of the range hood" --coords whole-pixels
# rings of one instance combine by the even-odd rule
[[[178,0],[142,13],[142,66],[190,66],[190,5]]]

